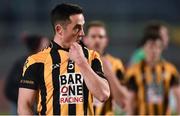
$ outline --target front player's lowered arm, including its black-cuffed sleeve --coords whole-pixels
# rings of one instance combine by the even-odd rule
[[[28,58],[23,69],[23,75],[19,83],[18,95],[18,114],[30,115],[33,114],[33,105],[38,89],[37,80],[40,78],[41,63],[35,63],[32,58]]]

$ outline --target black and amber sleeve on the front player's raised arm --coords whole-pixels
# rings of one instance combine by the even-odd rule
[[[91,68],[97,75],[99,75],[102,78],[105,78],[100,55],[95,51],[92,52]]]

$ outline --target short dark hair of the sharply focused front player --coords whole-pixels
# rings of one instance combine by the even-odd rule
[[[62,26],[65,26],[68,21],[70,21],[69,17],[74,14],[81,14],[83,10],[77,4],[70,3],[62,3],[57,5],[51,11],[51,23],[53,28],[57,23],[60,23]]]

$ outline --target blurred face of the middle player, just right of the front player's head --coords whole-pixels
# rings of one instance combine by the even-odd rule
[[[103,27],[90,27],[87,34],[87,46],[99,53],[104,52],[107,46],[106,30]]]

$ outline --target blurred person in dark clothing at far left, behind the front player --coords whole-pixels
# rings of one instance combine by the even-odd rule
[[[12,103],[11,114],[17,114],[18,85],[23,72],[24,62],[29,55],[35,54],[49,45],[49,40],[40,35],[25,35],[22,37],[23,44],[27,48],[27,54],[15,61],[5,84],[6,98]]]

